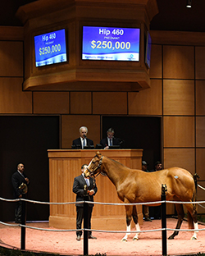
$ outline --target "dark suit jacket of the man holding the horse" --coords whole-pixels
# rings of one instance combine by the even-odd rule
[[[84,185],[86,185],[86,181],[84,181],[84,176],[80,175],[75,177],[73,183],[73,192],[76,194],[76,202],[78,201],[91,201],[93,202],[93,195],[95,195],[98,191],[97,185],[93,178],[89,178],[89,190],[94,190],[93,195],[84,197]],[[84,203],[75,203],[75,206],[84,207]],[[90,207],[93,207],[93,203],[89,204]]]

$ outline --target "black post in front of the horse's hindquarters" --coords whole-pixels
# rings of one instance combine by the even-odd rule
[[[167,255],[167,245],[166,245],[166,184],[162,184],[162,195],[161,200],[165,201],[162,203],[162,255]]]

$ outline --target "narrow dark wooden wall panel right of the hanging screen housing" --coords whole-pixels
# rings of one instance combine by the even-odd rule
[[[162,78],[162,45],[152,45],[149,77]]]

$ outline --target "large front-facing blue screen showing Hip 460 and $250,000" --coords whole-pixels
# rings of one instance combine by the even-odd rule
[[[139,62],[140,29],[83,27],[83,60]]]

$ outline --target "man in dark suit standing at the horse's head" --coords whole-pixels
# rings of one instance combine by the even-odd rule
[[[88,166],[84,164],[81,167],[82,174],[80,176],[75,177],[73,183],[73,192],[76,194],[76,202],[78,201],[91,201],[93,202],[93,195],[95,195],[98,191],[97,185],[93,178],[88,177],[85,178],[84,171]],[[86,195],[85,195],[86,194]],[[83,203],[75,203],[76,206],[76,229],[81,229],[82,221],[84,218],[84,204]],[[88,207],[88,228],[91,229],[91,217],[93,212],[93,203],[89,203]],[[82,231],[76,231],[76,240],[80,241]],[[92,235],[92,232],[89,231],[89,239],[97,239]]]

